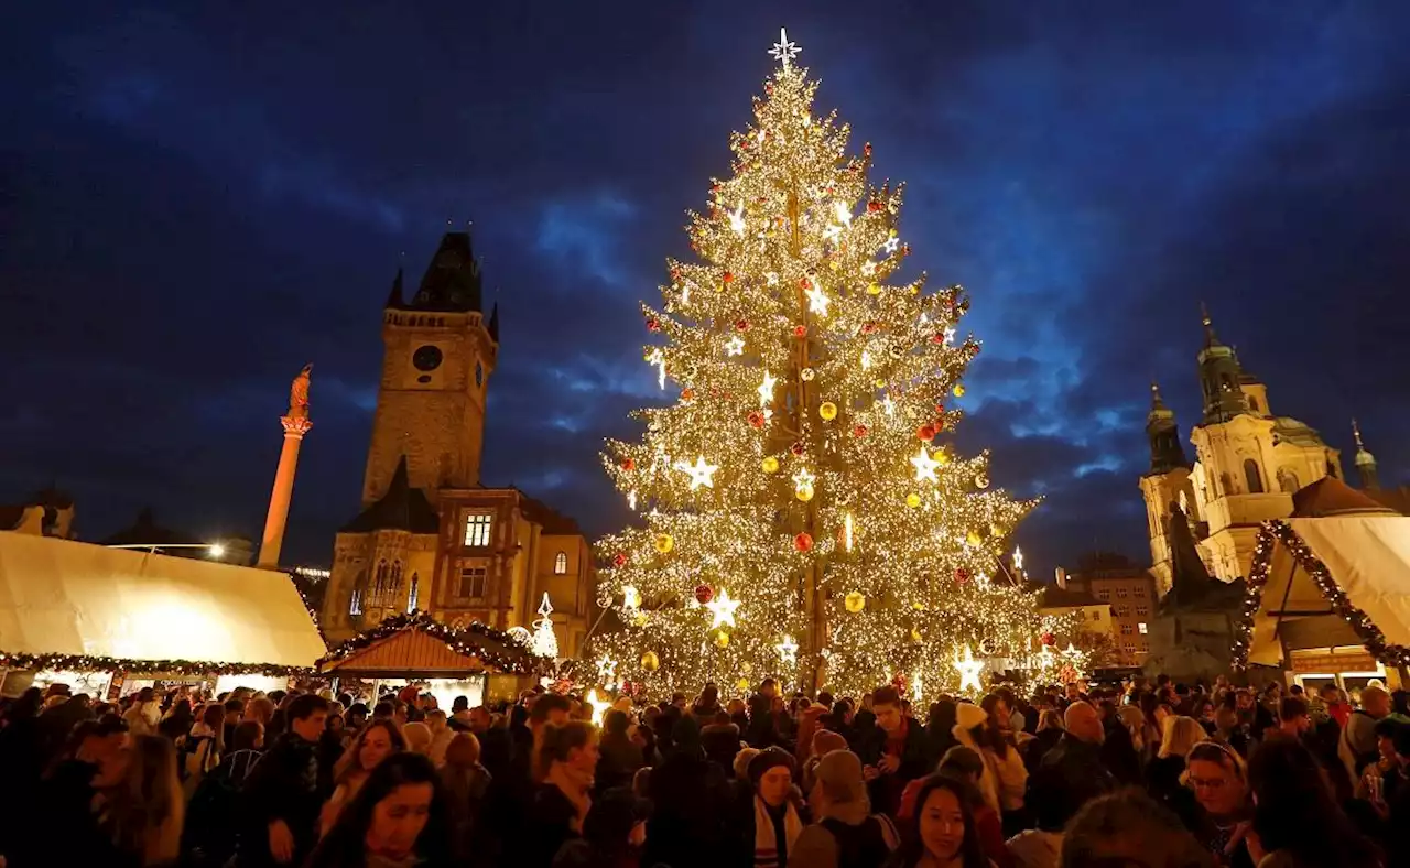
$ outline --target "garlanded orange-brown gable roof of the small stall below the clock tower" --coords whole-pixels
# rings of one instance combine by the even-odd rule
[[[358,678],[529,675],[540,662],[508,633],[484,624],[457,628],[417,612],[354,636],[320,659],[319,671]]]

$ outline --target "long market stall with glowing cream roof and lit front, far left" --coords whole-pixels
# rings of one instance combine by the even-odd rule
[[[0,531],[0,689],[272,689],[327,651],[282,572]]]

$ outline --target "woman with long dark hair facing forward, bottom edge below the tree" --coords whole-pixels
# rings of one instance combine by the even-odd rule
[[[963,781],[931,775],[915,798],[915,816],[887,868],[990,868],[974,830],[974,796]]]

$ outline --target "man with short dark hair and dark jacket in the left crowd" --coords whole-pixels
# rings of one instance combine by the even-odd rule
[[[316,748],[327,717],[326,699],[296,696],[286,709],[288,730],[245,779],[248,823],[240,838],[241,868],[302,865],[317,844],[319,810],[329,793],[319,788]]]

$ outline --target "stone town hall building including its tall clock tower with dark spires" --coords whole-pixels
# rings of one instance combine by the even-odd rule
[[[548,595],[563,657],[594,607],[578,526],[515,488],[481,485],[499,310],[484,314],[468,232],[447,232],[409,297],[382,311],[382,379],[362,509],[337,534],[323,628],[341,641],[413,609],[450,624],[529,627]]]

